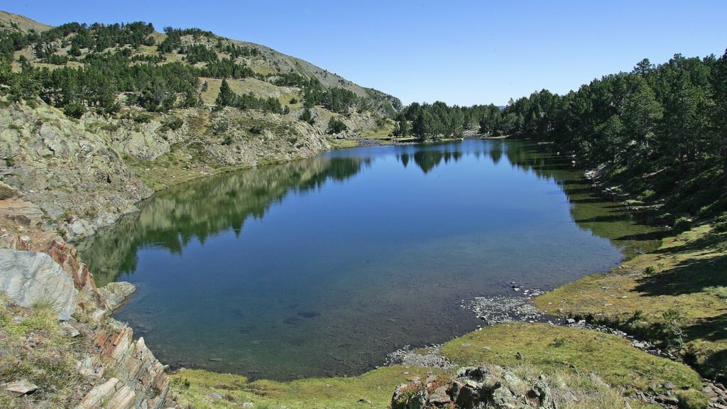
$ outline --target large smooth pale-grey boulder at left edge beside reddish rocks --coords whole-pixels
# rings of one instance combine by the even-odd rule
[[[70,319],[79,290],[60,264],[45,253],[0,250],[0,288],[24,307],[50,303],[59,319]]]

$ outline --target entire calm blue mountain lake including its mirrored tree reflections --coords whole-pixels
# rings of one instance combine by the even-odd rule
[[[462,300],[552,289],[651,250],[653,229],[531,143],[335,151],[155,194],[79,250],[164,363],[353,375],[480,322]]]

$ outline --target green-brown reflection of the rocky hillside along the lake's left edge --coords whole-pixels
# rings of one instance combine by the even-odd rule
[[[89,237],[78,249],[87,255],[84,261],[97,285],[105,285],[119,274],[136,271],[142,248],[181,254],[192,239],[204,243],[228,230],[239,237],[246,220],[263,218],[286,195],[314,190],[326,180],[348,180],[370,162],[370,158],[313,158],[195,180],[158,192],[140,213]]]

